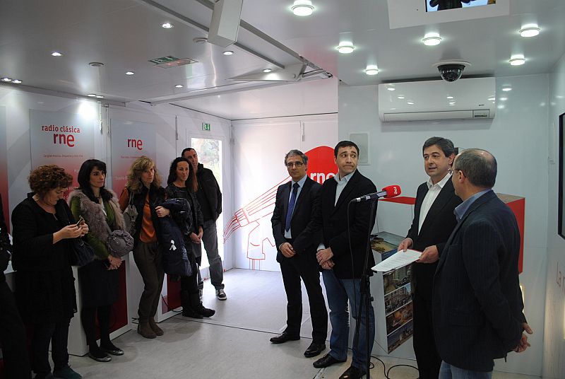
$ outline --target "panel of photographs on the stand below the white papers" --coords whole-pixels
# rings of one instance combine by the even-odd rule
[[[411,267],[409,264],[383,274],[388,353],[406,342],[414,331],[414,311],[410,295]]]

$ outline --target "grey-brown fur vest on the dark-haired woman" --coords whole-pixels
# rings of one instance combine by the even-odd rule
[[[108,204],[114,211],[114,225],[110,226],[112,231],[120,229],[125,230],[124,216],[121,215],[121,210],[119,209],[118,199],[116,194],[112,192],[111,189],[106,189],[110,194],[112,194],[112,199],[109,200]],[[80,201],[81,214],[88,225],[88,233],[92,233],[97,239],[101,241],[107,241],[109,237],[108,228],[106,228],[106,216],[104,211],[102,211],[102,206],[88,199],[88,196],[84,194],[80,189],[75,189],[69,195],[69,204],[73,197],[77,197]]]

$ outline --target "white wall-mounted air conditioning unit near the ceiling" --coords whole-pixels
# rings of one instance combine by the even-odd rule
[[[383,83],[379,84],[379,117],[383,122],[492,119],[495,92],[494,78]]]

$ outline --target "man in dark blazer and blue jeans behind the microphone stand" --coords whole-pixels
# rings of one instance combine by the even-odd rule
[[[326,286],[330,322],[330,352],[315,361],[314,367],[322,368],[347,360],[347,344],[349,340],[349,312],[356,322],[360,322],[359,335],[353,341],[353,358],[350,368],[340,379],[361,378],[366,371],[367,356],[365,350],[373,349],[375,320],[372,305],[362,307],[361,277],[364,257],[369,243],[369,232],[372,230],[375,215],[370,214],[371,207],[364,203],[350,201],[355,197],[376,192],[376,187],[367,177],[357,171],[359,148],[352,141],[340,141],[333,150],[338,175],[323,183],[320,189],[320,211],[316,212],[316,226],[322,229],[322,244],[316,255],[323,268],[323,284]],[[347,218],[349,208],[349,218]],[[351,249],[350,249],[351,247]],[[369,267],[374,265],[373,255],[369,255]],[[365,314],[369,315],[369,325]],[[366,330],[369,329],[369,341]]]

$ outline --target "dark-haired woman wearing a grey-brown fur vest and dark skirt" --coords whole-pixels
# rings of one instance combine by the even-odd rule
[[[120,356],[124,351],[110,341],[110,312],[112,304],[118,300],[118,268],[121,259],[110,254],[106,242],[109,226],[112,231],[124,230],[124,216],[121,215],[116,194],[104,187],[106,163],[89,159],[78,171],[78,189],[69,195],[69,204],[76,220],[81,216],[90,230],[86,241],[95,251],[95,260],[78,269],[81,284],[83,322],[88,356],[95,361],[112,360],[108,354]],[[100,325],[100,346],[96,340],[96,316]]]

